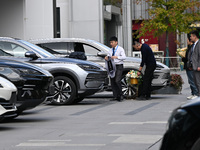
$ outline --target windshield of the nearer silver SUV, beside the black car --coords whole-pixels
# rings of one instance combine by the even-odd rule
[[[52,55],[51,53],[47,52],[46,50],[40,48],[37,45],[34,45],[32,43],[26,42],[24,40],[19,40],[19,42],[25,44],[26,46],[30,47],[34,52],[38,53],[39,55],[41,55],[44,58],[48,58],[48,57],[55,57],[54,55]]]

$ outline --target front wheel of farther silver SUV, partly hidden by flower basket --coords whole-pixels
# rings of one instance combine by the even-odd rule
[[[121,85],[122,85],[122,94],[125,98],[128,98],[128,99],[136,98],[137,88],[134,86],[128,86],[125,75],[123,75],[123,77],[122,77]]]

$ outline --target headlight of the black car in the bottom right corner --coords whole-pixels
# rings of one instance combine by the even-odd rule
[[[176,127],[180,129],[184,125],[185,118],[188,112],[185,109],[176,109],[168,121],[168,129]]]

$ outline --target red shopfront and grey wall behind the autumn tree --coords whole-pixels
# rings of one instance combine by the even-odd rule
[[[137,0],[132,0],[132,31],[133,33],[137,31],[141,27],[142,20],[148,20],[150,17],[148,15],[149,9],[148,3],[145,2],[145,0],[142,0],[139,4],[137,3]],[[150,36],[143,36],[139,39],[135,38],[136,35],[133,35],[133,41],[140,41],[141,43],[146,43],[152,47],[154,51],[163,51],[165,55],[165,49],[166,49],[166,35],[163,34],[162,36],[158,38],[154,38],[153,35]],[[177,36],[176,34],[169,34],[169,54],[170,56],[174,57],[176,56],[176,49],[178,48],[178,45],[176,41],[180,41],[180,47],[186,47],[187,46],[187,35],[182,34],[181,36]]]

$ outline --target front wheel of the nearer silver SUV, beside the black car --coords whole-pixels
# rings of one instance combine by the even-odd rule
[[[68,77],[54,78],[55,93],[51,103],[58,105],[72,104],[76,96],[76,86]]]

